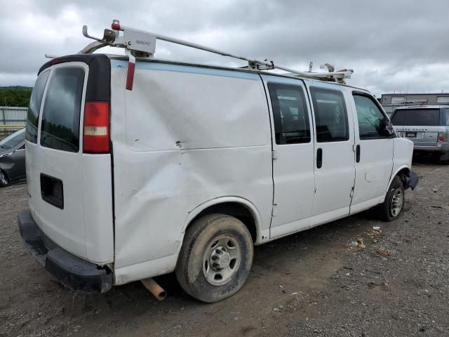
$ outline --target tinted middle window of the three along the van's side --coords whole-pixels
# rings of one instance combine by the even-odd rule
[[[310,88],[318,143],[349,140],[346,105],[341,91]]]

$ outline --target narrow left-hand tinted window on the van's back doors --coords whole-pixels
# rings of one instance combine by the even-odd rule
[[[47,83],[48,74],[50,74],[49,71],[43,72],[36,79],[36,84],[34,84],[31,99],[29,100],[25,138],[32,143],[37,143],[37,122],[39,121],[43,89]]]

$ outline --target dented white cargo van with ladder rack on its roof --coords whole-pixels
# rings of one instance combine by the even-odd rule
[[[254,245],[372,207],[394,220],[417,185],[413,143],[337,73],[133,55],[55,58],[33,89],[18,223],[72,289],[175,271],[187,293],[215,302],[243,286]]]

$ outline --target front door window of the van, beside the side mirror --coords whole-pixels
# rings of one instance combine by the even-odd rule
[[[382,120],[386,118],[377,105],[366,95],[354,94],[358,119],[358,135],[361,140],[389,138],[382,132]]]

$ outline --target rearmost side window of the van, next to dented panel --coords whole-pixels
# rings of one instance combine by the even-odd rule
[[[300,86],[268,84],[276,144],[310,142],[309,111]]]

